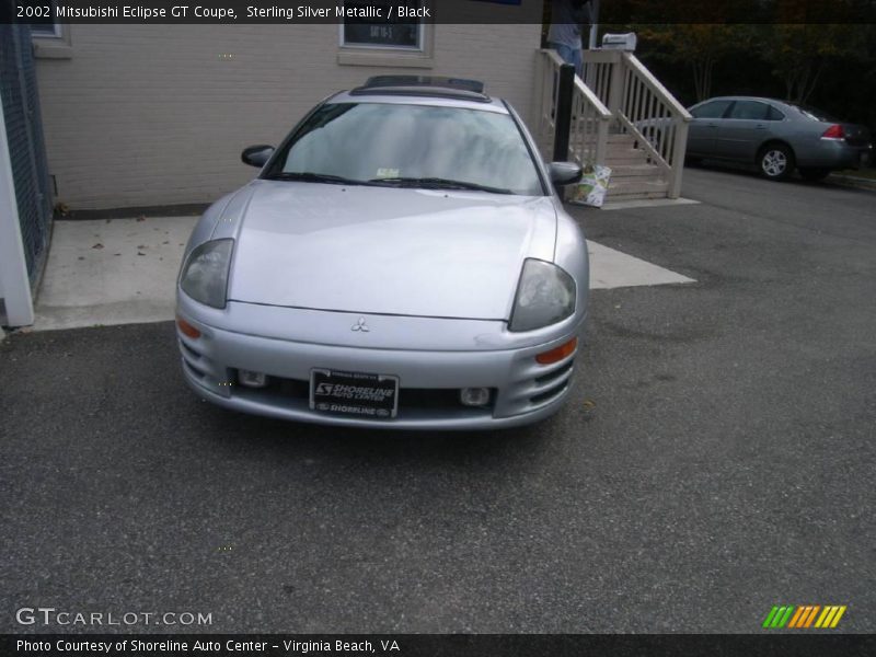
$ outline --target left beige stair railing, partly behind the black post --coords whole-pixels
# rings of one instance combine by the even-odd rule
[[[539,150],[542,157],[550,161],[554,154],[560,67],[564,62],[554,50],[539,50],[537,57],[533,127]],[[572,127],[567,160],[583,166],[604,163],[610,123],[611,112],[576,76],[572,92]]]

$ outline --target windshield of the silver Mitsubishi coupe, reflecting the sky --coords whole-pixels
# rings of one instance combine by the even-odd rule
[[[323,105],[265,177],[544,195],[509,115],[428,105]]]

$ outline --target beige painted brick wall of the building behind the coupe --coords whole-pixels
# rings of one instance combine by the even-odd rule
[[[72,209],[206,203],[316,101],[380,73],[484,80],[529,117],[538,24],[435,25],[430,68],[338,64],[337,25],[72,25],[38,59],[49,173]],[[231,55],[231,57],[223,57]]]

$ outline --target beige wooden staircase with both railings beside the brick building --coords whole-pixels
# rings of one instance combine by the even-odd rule
[[[550,159],[563,60],[553,50],[538,57],[534,132]],[[588,50],[584,60],[572,93],[568,160],[611,168],[607,201],[678,198],[690,114],[631,53]]]

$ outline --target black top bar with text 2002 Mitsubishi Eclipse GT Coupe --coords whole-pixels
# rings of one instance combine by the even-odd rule
[[[0,0],[0,23],[542,23],[550,0]],[[876,23],[876,0],[601,0],[599,23]]]

